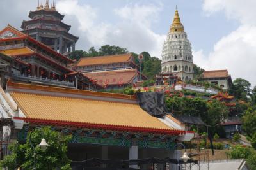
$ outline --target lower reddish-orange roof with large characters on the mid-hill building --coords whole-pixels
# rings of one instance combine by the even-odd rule
[[[100,72],[90,72],[83,73],[84,76],[97,81],[98,85],[104,86],[106,83],[108,85],[118,85],[129,84],[135,76],[138,76],[138,71],[136,69],[123,69],[115,71],[100,71]]]

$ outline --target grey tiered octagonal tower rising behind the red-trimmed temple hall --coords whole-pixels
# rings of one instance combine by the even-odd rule
[[[45,6],[38,3],[28,17],[31,20],[22,22],[22,32],[64,55],[75,50],[78,37],[68,32],[71,26],[62,22],[64,15],[58,13],[54,3],[51,8],[48,0]]]

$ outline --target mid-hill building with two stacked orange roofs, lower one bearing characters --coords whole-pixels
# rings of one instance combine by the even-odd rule
[[[140,80],[140,72],[131,53],[84,57],[73,69],[106,89],[123,88]],[[147,77],[141,74],[141,79],[147,80]]]

